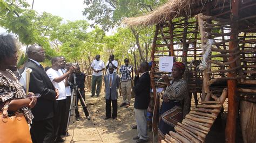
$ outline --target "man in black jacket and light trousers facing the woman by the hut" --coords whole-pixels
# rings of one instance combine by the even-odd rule
[[[149,63],[142,62],[134,77],[135,101],[134,112],[137,124],[138,135],[134,137],[136,142],[146,142],[149,139],[147,135],[146,113],[150,103],[150,75]],[[142,73],[139,77],[139,73]]]

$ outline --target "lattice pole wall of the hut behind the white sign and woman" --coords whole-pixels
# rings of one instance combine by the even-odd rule
[[[185,30],[185,32],[184,32]],[[201,43],[198,33],[198,22],[196,18],[180,17],[169,22],[156,26],[156,33],[152,45],[151,59],[153,66],[151,69],[151,84],[156,85],[161,74],[171,74],[159,71],[159,58],[161,56],[174,56],[174,60],[184,62],[186,71],[184,78],[188,82],[189,92],[196,96],[201,93],[203,75],[197,69],[201,60]],[[171,77],[170,77],[171,78]],[[163,80],[158,81],[158,87],[165,87]],[[159,96],[156,96],[156,86],[153,87],[154,99],[157,101],[155,112],[159,109]],[[153,129],[157,132],[157,117],[153,119]]]

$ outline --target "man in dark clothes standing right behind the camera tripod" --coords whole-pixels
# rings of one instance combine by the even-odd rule
[[[86,116],[86,119],[90,120],[91,117],[89,116],[89,112],[87,110],[86,104],[84,103],[84,101],[85,101],[85,90],[84,90],[85,74],[80,71],[79,66],[77,66],[77,69],[75,70],[74,74],[76,76],[76,85],[77,85],[77,92],[76,92],[77,101],[76,102],[78,102],[78,99],[80,100],[80,103],[83,106],[83,110],[84,110],[84,114]],[[75,83],[74,76],[70,76],[69,81],[72,84],[74,84]],[[77,103],[76,103],[76,106],[77,106]],[[79,121],[80,120],[80,115],[79,115],[78,109],[75,109],[75,113],[76,113],[76,120]]]

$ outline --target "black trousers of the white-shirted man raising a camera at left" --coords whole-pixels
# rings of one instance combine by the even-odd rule
[[[55,135],[56,138],[60,138],[60,135],[62,135],[62,131],[65,130],[65,115],[66,115],[66,99],[56,101],[57,108],[55,113]]]

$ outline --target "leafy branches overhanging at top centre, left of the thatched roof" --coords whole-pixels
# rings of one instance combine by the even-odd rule
[[[152,11],[167,0],[84,0],[83,15],[109,30],[119,26],[124,17],[134,17]]]

